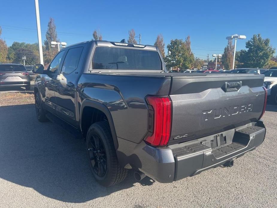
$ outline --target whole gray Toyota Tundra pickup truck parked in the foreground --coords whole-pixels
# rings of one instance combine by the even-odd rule
[[[37,118],[86,139],[95,179],[161,183],[231,167],[266,129],[264,75],[167,73],[155,46],[88,41],[34,65]]]

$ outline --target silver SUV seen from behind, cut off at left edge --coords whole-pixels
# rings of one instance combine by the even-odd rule
[[[30,90],[30,76],[22,64],[0,63],[0,88],[25,87]]]

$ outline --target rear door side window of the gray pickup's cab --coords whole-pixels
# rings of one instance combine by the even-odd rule
[[[63,61],[62,74],[70,74],[78,67],[83,47],[69,49]]]

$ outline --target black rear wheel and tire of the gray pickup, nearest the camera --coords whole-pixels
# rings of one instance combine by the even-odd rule
[[[128,169],[122,168],[118,163],[107,121],[96,122],[90,126],[86,147],[90,169],[99,184],[108,187],[126,178]]]

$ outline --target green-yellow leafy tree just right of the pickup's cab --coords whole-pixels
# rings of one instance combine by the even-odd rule
[[[190,69],[193,66],[194,55],[190,49],[190,38],[171,40],[167,45],[168,54],[165,57],[167,67]]]

